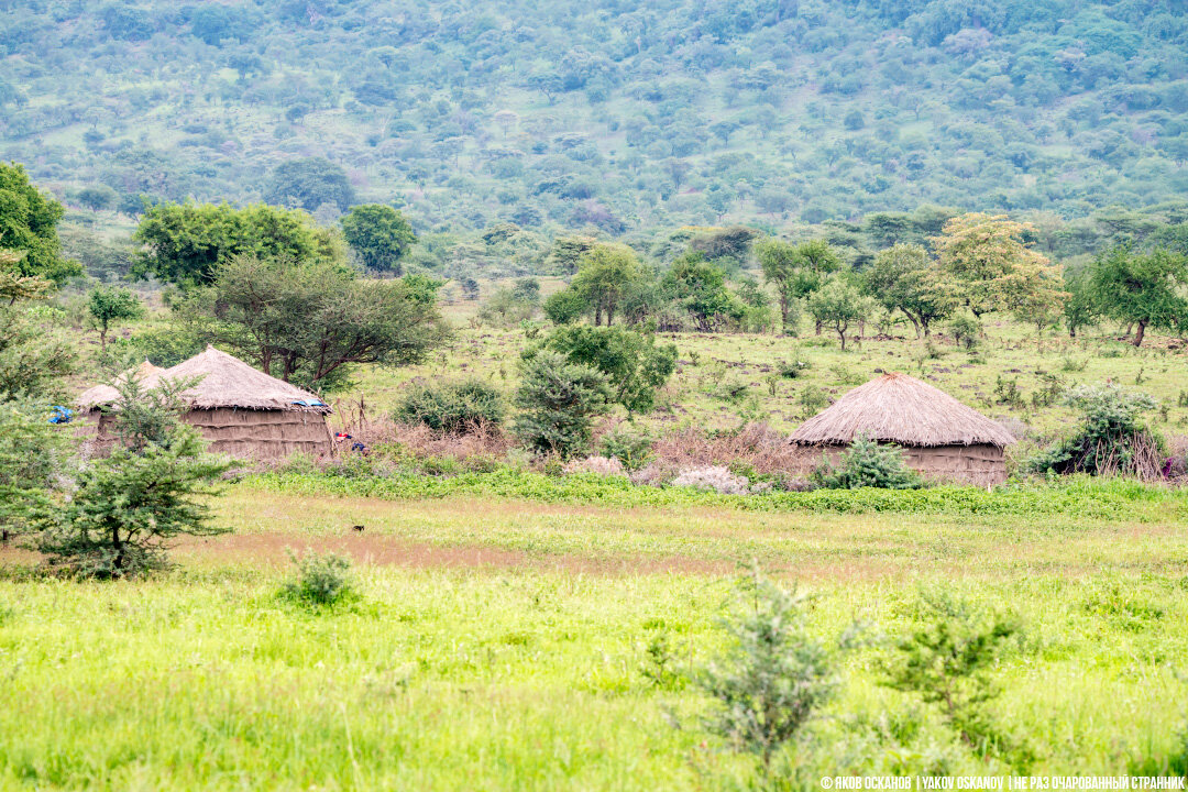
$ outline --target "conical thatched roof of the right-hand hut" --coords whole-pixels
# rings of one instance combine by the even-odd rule
[[[803,445],[845,444],[866,436],[909,446],[1010,445],[1000,425],[948,393],[906,374],[884,374],[838,399],[792,432]]]

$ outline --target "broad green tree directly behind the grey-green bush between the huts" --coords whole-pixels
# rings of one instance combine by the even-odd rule
[[[563,354],[573,363],[589,366],[605,374],[611,386],[611,400],[621,404],[628,413],[651,411],[656,392],[676,370],[676,344],[657,344],[653,335],[624,327],[579,324],[557,328],[543,347]]]

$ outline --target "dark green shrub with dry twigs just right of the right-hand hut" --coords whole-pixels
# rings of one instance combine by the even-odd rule
[[[1142,412],[1158,406],[1155,399],[1116,385],[1081,385],[1068,392],[1064,403],[1083,411],[1081,427],[1028,461],[1024,470],[1142,479],[1162,474],[1163,438],[1139,420]]]

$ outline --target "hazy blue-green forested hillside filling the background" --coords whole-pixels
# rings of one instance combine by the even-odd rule
[[[620,233],[1188,192],[1182,0],[8,0],[0,51],[2,157],[113,208]]]

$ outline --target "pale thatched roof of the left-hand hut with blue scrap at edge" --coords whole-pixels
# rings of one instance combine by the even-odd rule
[[[268,376],[264,372],[252,368],[244,361],[219,351],[214,347],[207,347],[206,351],[194,357],[168,368],[157,369],[157,373],[144,378],[141,384],[145,388],[152,388],[162,379],[189,379],[201,376],[197,385],[185,391],[182,397],[196,410],[213,410],[216,407],[234,407],[239,410],[304,410],[311,412],[330,412],[329,405],[318,397],[302,391],[295,385]],[[103,387],[103,386],[100,386]],[[101,401],[88,403],[87,395],[99,388],[91,388],[80,398],[78,404],[84,410],[109,404],[116,397],[115,388],[107,386],[110,394],[100,393],[100,397],[109,397]]]

